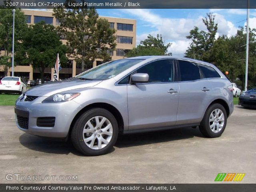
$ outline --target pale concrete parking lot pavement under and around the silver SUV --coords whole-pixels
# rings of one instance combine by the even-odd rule
[[[218,173],[256,181],[256,110],[235,106],[220,138],[193,128],[125,135],[104,156],[79,154],[69,142],[25,134],[14,107],[0,106],[0,183],[214,183]],[[77,181],[6,180],[6,174],[78,176]]]

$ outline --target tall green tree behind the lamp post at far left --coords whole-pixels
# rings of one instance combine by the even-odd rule
[[[11,1],[8,1],[11,2]],[[4,2],[6,3],[6,2]],[[0,48],[4,51],[1,57],[1,65],[4,66],[4,73],[7,75],[8,69],[11,67],[11,53],[12,53],[12,28],[13,28],[13,13],[11,8],[0,8]],[[15,31],[14,31],[14,51],[16,46],[22,43],[22,34],[27,29],[25,16],[20,9],[15,12]],[[14,63],[16,64],[16,63]]]

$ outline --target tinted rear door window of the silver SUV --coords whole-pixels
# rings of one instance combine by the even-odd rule
[[[179,60],[179,66],[181,81],[194,81],[200,79],[200,72],[196,64]]]

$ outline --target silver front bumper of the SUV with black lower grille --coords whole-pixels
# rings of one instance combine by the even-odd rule
[[[33,101],[16,101],[15,116],[18,128],[28,134],[65,138],[76,114],[82,106],[73,100],[58,103],[42,103],[47,97]],[[49,119],[51,122],[49,122]],[[42,123],[48,120],[46,123]]]

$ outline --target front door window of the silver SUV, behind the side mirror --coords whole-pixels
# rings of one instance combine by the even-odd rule
[[[173,82],[173,61],[158,60],[139,68],[136,73],[147,73],[149,83]]]

